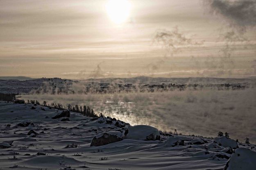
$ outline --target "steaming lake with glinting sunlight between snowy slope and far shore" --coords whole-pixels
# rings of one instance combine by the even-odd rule
[[[88,105],[105,116],[160,130],[216,136],[229,132],[242,141],[256,142],[256,89],[169,91],[114,94],[23,95],[24,99],[48,103]]]

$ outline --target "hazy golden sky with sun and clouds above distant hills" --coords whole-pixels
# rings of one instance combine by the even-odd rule
[[[0,76],[256,76],[256,0],[0,0]]]

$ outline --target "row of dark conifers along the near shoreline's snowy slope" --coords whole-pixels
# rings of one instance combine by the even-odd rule
[[[76,113],[81,113],[84,116],[88,116],[88,117],[99,117],[97,116],[97,114],[95,114],[93,108],[89,107],[89,106],[78,106],[78,105],[62,105],[61,103],[51,103],[48,104],[46,101],[43,101],[43,103],[41,104],[39,101],[37,100],[27,100],[27,103],[31,103],[34,105],[43,105],[46,107],[51,107],[54,109],[59,109],[59,110],[69,110],[71,112],[76,112]]]

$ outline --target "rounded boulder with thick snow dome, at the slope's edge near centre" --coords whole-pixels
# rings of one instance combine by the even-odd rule
[[[130,126],[125,130],[124,138],[144,141],[156,141],[161,139],[159,131],[148,125]]]

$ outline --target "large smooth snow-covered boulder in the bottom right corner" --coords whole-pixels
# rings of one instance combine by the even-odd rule
[[[231,154],[224,170],[255,170],[256,152],[246,148],[238,148]]]

